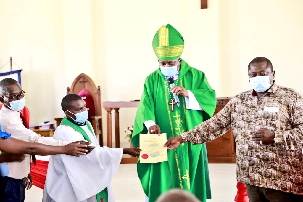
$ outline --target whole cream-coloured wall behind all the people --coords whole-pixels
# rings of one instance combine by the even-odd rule
[[[10,56],[22,66],[31,122],[63,116],[66,87],[82,72],[101,86],[102,101],[140,99],[158,67],[152,38],[170,23],[185,39],[182,58],[205,72],[217,96],[250,89],[247,64],[257,56],[272,61],[280,85],[303,93],[302,7],[300,0],[208,0],[208,9],[199,0],[0,0],[0,66]],[[121,141],[135,111],[120,109]]]

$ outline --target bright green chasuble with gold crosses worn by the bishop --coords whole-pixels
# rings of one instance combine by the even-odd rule
[[[185,99],[179,95],[181,107],[171,111],[170,96],[165,76],[160,68],[145,80],[143,94],[135,117],[132,142],[139,146],[139,133],[148,133],[144,122],[154,120],[167,138],[193,129],[214,113],[215,91],[208,84],[205,74],[181,62],[178,83],[190,90],[203,111],[186,109]],[[147,134],[148,135],[148,134]],[[201,201],[211,198],[208,161],[205,144],[183,143],[175,150],[168,150],[168,161],[161,163],[137,163],[138,176],[148,200],[153,202],[165,191],[181,188],[195,194]]]

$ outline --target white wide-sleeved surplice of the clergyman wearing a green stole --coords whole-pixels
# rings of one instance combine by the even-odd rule
[[[43,198],[43,201],[86,201],[108,187],[120,165],[123,149],[100,147],[90,134],[91,146],[96,146],[91,153],[81,157],[64,154],[50,157],[44,191],[52,200]],[[54,138],[84,140],[82,134],[69,126],[58,126]]]

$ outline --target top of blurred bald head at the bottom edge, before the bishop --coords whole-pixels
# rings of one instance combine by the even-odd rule
[[[172,189],[162,194],[156,202],[201,202],[197,197],[188,191]]]

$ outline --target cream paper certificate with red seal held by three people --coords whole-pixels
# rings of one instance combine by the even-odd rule
[[[140,163],[167,161],[166,133],[140,134]]]

